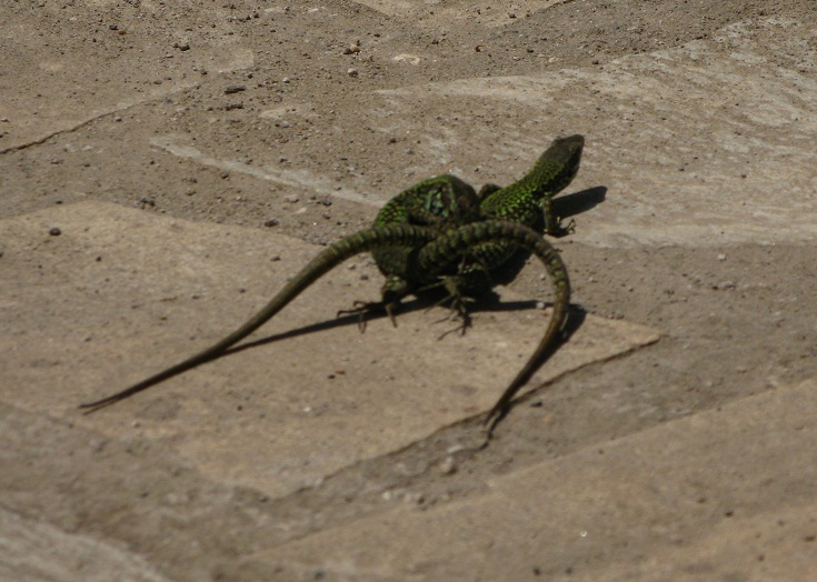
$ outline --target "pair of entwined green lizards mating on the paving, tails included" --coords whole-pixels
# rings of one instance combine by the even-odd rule
[[[292,278],[272,300],[243,325],[206,350],[108,398],[82,404],[93,412],[212,360],[269,321],[298,294],[345,260],[371,251],[386,275],[382,300],[359,311],[382,305],[393,321],[393,309],[409,293],[444,284],[452,308],[468,325],[467,294],[490,288],[490,271],[505,263],[519,247],[545,264],[554,289],[554,313],[536,352],[489,412],[486,422],[501,418],[516,392],[532,375],[540,359],[559,340],[567,321],[570,284],[558,252],[537,230],[561,235],[551,210],[552,197],[570,183],[579,169],[585,140],[557,139],[521,180],[506,188],[485,185],[479,193],[462,180],[440,175],[420,182],[392,198],[375,224],[329,245]]]

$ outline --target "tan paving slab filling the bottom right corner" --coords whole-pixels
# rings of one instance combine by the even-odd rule
[[[811,580],[817,380],[255,556],[290,580]]]

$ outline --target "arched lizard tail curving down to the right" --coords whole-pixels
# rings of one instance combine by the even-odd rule
[[[436,265],[451,263],[476,244],[506,241],[516,242],[539,258],[554,283],[556,297],[554,313],[545,330],[545,335],[525,367],[494,404],[486,418],[486,424],[505,415],[514,395],[530,380],[534,372],[544,363],[544,359],[558,347],[570,307],[570,280],[567,275],[567,268],[556,249],[536,231],[518,222],[501,220],[488,220],[460,227],[427,244],[418,257],[420,269],[424,272],[432,272]]]

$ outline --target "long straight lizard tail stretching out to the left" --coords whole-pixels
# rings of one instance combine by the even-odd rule
[[[290,279],[285,288],[281,289],[281,291],[279,291],[269,303],[225,339],[218,341],[206,350],[191,355],[187,360],[183,360],[176,365],[171,365],[170,368],[122,390],[121,392],[117,392],[116,394],[94,402],[80,404],[80,408],[86,409],[86,414],[89,414],[221,355],[230,347],[243,340],[247,335],[263,325],[310,284],[331,271],[338,264],[356,254],[385,245],[408,245],[419,248],[437,237],[439,237],[439,232],[434,229],[409,224],[375,227],[346,237],[321,251],[303,269],[301,269],[298,274]]]

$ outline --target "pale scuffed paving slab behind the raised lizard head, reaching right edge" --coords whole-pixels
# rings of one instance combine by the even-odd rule
[[[604,187],[607,195],[581,214],[577,242],[615,248],[813,241],[813,33],[804,22],[747,20],[711,39],[602,67],[379,88],[362,101],[356,92],[327,102],[291,98],[277,109],[248,107],[239,119],[250,126],[249,134],[258,133],[241,147],[251,164],[236,161],[230,141],[193,142],[192,128],[216,127],[202,113],[209,101],[200,96],[179,100],[185,114],[178,119],[145,111],[141,122],[158,132],[147,142],[187,162],[373,205],[419,177],[444,172],[476,184],[508,183],[551,138],[578,132],[587,136],[587,148],[569,192]],[[770,47],[779,62],[770,62]],[[286,129],[273,123],[281,121],[272,119],[280,110]],[[429,123],[428,111],[439,122]],[[495,119],[497,111],[502,120]],[[347,140],[338,127],[357,129]],[[307,130],[323,139],[295,144],[291,137]],[[269,132],[280,136],[272,149],[263,143]],[[399,146],[379,146],[389,140]],[[313,162],[321,157],[330,161]]]

